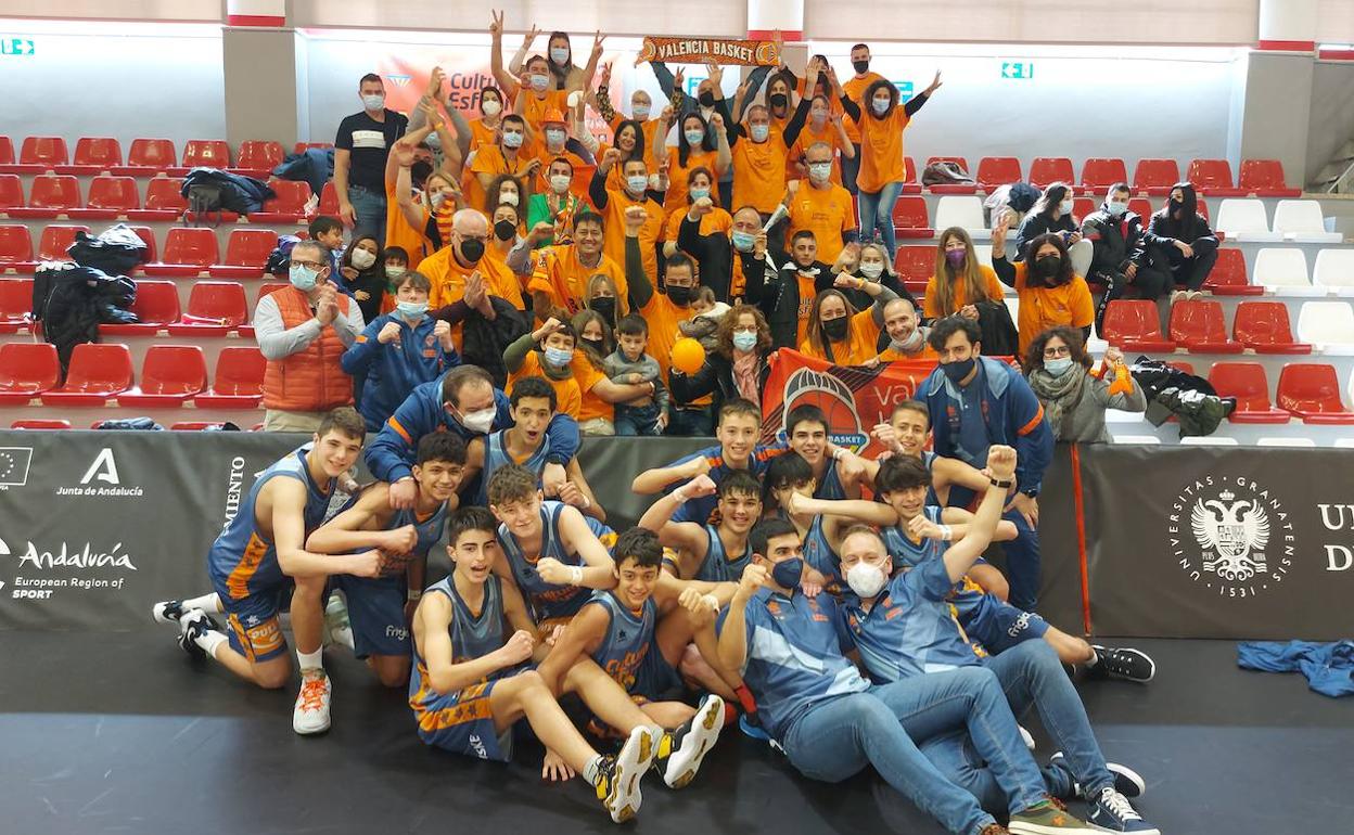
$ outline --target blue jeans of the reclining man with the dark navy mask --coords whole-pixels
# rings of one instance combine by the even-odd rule
[[[1043,780],[1025,752],[997,678],[982,667],[842,696],[800,717],[783,742],[791,765],[804,777],[841,782],[872,765],[946,830],[968,834],[995,821],[971,793],[946,780],[914,742],[965,723],[983,738],[992,762],[1003,763],[1003,778],[1017,781],[1010,808],[1020,811],[1043,800]]]

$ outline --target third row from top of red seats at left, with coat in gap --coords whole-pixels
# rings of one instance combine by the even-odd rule
[[[213,229],[175,226],[165,233],[164,260],[158,260],[156,235],[149,226],[133,226],[133,231],[146,242],[148,263],[141,271],[156,277],[191,277],[207,273],[217,279],[260,279],[268,254],[278,246],[278,233],[272,229],[232,229],[226,240],[226,254],[221,257],[217,233]],[[32,272],[41,261],[66,261],[66,249],[77,231],[88,226],[51,225],[42,230],[34,257],[32,238],[27,226],[0,225],[0,272]],[[301,233],[303,234],[303,233]]]

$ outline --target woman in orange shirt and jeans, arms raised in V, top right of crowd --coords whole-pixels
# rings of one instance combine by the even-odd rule
[[[833,89],[841,89],[837,72],[831,68],[827,78]],[[903,168],[903,130],[940,84],[937,72],[930,87],[902,107],[898,106],[898,88],[891,81],[875,81],[867,87],[861,104],[852,101],[846,93],[839,93],[842,110],[860,129],[860,173],[856,176],[860,189],[860,235],[861,240],[873,240],[877,230],[890,257],[894,257],[898,248],[894,240],[894,203],[898,202],[907,176]]]

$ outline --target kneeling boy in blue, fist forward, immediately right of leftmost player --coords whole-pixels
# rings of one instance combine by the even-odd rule
[[[336,577],[332,582],[347,602],[351,648],[387,687],[409,682],[409,616],[422,595],[428,551],[441,539],[447,510],[456,506],[464,467],[464,441],[450,432],[425,434],[413,470],[418,484],[413,507],[391,507],[390,484],[376,482],[306,540],[311,551],[344,554],[380,548],[389,531],[414,533],[408,551],[382,554],[380,577]]]

